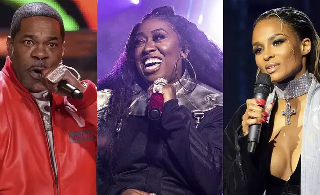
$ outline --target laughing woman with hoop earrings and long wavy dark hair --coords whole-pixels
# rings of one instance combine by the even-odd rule
[[[167,84],[154,121],[157,79]],[[195,24],[154,9],[98,90],[99,194],[222,193],[222,51]]]

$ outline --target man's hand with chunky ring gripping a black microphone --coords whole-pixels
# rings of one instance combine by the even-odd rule
[[[56,67],[42,70],[41,81],[51,92],[61,96],[81,99],[83,97],[82,93],[84,92],[85,87],[76,78],[76,71],[73,72],[75,73],[71,73],[63,64],[59,64]]]

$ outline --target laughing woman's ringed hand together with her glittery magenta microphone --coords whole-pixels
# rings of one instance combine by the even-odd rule
[[[151,120],[159,120],[162,115],[163,104],[176,98],[175,86],[168,84],[164,78],[159,78],[148,88],[148,116]]]

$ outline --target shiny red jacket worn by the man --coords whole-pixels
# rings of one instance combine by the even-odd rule
[[[96,195],[97,90],[84,82],[81,100],[53,94],[55,181],[39,108],[7,59],[0,72],[0,195]]]

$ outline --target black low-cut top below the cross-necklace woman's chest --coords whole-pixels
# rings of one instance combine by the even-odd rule
[[[270,169],[269,169],[270,170]],[[300,195],[301,155],[296,170],[288,181],[271,175],[266,177],[266,195]]]

